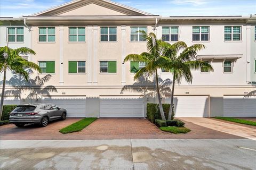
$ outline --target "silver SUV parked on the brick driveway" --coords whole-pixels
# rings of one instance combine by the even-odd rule
[[[54,104],[19,105],[11,113],[9,121],[18,127],[25,124],[39,124],[47,126],[49,121],[66,120],[66,109],[59,108]]]

